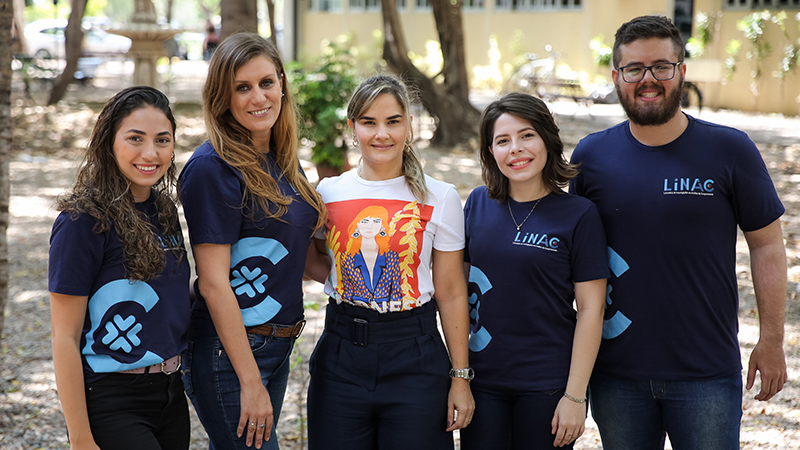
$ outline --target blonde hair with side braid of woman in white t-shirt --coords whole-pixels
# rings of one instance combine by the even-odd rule
[[[428,187],[425,185],[425,172],[422,170],[419,155],[412,145],[414,130],[411,128],[411,115],[408,111],[411,101],[408,88],[403,82],[389,75],[375,75],[368,78],[356,88],[353,96],[350,97],[347,105],[347,118],[355,123],[381,94],[393,95],[403,109],[408,124],[408,136],[406,136],[403,148],[403,175],[414,197],[421,203],[425,203],[425,199],[428,197]]]

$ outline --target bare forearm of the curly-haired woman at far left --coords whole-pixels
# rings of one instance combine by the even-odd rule
[[[78,447],[81,443],[92,443],[94,437],[89,426],[83,365],[78,343],[70,339],[61,339],[54,334],[52,345],[56,388],[67,422],[70,444]]]

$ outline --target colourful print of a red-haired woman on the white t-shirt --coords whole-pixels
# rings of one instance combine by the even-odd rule
[[[334,297],[380,312],[417,306],[419,253],[433,207],[416,201],[359,199],[328,207],[327,246]]]

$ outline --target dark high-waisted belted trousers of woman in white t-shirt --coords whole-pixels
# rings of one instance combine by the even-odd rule
[[[386,314],[329,304],[309,368],[309,450],[453,448],[433,301]]]

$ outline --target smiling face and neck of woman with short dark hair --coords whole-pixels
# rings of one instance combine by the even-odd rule
[[[542,179],[547,147],[530,122],[508,113],[498,117],[491,152],[500,172],[508,178],[509,195],[514,200],[534,200],[547,194]]]

